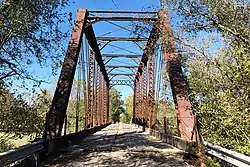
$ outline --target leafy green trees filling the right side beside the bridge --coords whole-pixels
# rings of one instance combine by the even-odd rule
[[[190,53],[184,62],[202,137],[249,154],[249,1],[167,2],[179,15],[181,49]],[[203,36],[204,43],[192,45],[192,40],[203,41],[198,37],[204,32],[210,33]],[[221,41],[211,44],[211,34],[220,34]],[[217,45],[223,48],[215,52]]]

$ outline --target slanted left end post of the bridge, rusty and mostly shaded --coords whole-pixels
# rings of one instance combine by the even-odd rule
[[[44,140],[50,140],[61,136],[63,122],[67,110],[71,87],[76,70],[77,60],[82,43],[83,28],[86,25],[87,11],[79,9],[66,56],[64,58],[61,74],[57,82],[56,91],[52,100],[51,108],[48,112]]]

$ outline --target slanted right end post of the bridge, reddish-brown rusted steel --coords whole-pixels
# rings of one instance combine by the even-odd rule
[[[160,29],[163,37],[163,54],[168,62],[168,74],[172,88],[173,99],[176,105],[178,130],[182,138],[192,140],[195,130],[195,118],[188,97],[188,86],[185,80],[181,62],[178,58],[174,35],[170,26],[167,11],[159,12]],[[194,133],[193,140],[197,138]]]

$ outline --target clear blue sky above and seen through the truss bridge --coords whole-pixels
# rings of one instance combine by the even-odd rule
[[[156,0],[75,0],[75,2],[70,2],[69,6],[65,8],[65,12],[72,13],[73,20],[76,16],[76,11],[78,8],[87,8],[88,10],[129,10],[129,11],[153,11],[159,6],[159,2]],[[116,24],[119,24],[123,27],[131,28],[129,27],[130,22],[115,22]],[[114,33],[108,35],[108,36],[117,36],[117,37],[129,37],[130,32],[125,30],[118,30],[119,27],[116,27],[114,25],[111,25],[109,23],[96,23],[94,24],[94,31],[96,36],[101,36],[109,31],[115,31]],[[69,23],[65,23],[62,25],[62,29],[64,31],[71,30],[71,27],[69,26]],[[64,42],[65,48],[67,47],[69,38]],[[113,46],[112,46],[113,45]],[[127,50],[130,50],[131,52],[142,54],[143,51],[140,50],[135,44],[131,42],[113,42],[110,46],[105,47],[102,50],[102,53],[118,53],[118,54],[132,54],[130,52],[122,51],[114,46],[126,48]],[[62,57],[63,60],[63,57]],[[135,65],[134,61],[131,59],[113,59],[110,61],[109,65]],[[58,74],[60,73],[60,70],[58,70]],[[117,69],[114,70],[113,73],[122,73],[122,71],[126,72],[129,71],[128,69]],[[37,78],[41,78],[46,80],[48,83],[43,83],[40,88],[42,89],[49,89],[51,92],[54,91],[56,81],[58,80],[59,75],[53,76],[51,75],[51,67],[50,62],[46,67],[40,68],[37,64],[32,65],[30,72],[37,76]],[[116,79],[127,79],[124,76],[117,77]],[[133,91],[128,86],[115,86],[116,89],[118,89],[122,94],[122,99],[125,99],[125,97],[132,95]]]

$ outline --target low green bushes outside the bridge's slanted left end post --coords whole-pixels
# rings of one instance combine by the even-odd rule
[[[0,87],[0,151],[14,147],[13,139],[26,141],[41,136],[45,121],[43,109],[47,104],[31,99],[25,100]]]

